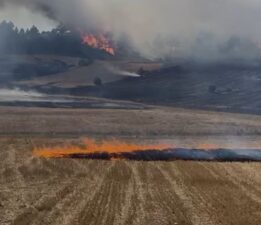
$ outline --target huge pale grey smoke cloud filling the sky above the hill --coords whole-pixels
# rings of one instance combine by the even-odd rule
[[[0,0],[54,21],[127,37],[149,58],[260,59],[258,0]]]

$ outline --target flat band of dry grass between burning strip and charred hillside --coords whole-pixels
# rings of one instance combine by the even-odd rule
[[[151,108],[37,109],[0,107],[1,134],[112,136],[259,135],[261,116]]]

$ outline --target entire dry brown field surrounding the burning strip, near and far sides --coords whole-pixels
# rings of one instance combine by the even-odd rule
[[[44,159],[34,146],[117,137],[260,146],[261,117],[175,108],[0,108],[1,225],[259,225],[260,163]]]

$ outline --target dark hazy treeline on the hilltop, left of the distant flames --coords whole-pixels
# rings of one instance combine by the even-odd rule
[[[40,32],[37,27],[18,29],[12,22],[0,23],[0,54],[53,54],[86,58],[109,55],[82,43],[80,32],[59,25]]]

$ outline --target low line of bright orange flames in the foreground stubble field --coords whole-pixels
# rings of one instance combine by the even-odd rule
[[[95,154],[95,153],[109,153],[120,154],[133,151],[146,150],[164,150],[170,148],[166,144],[142,145],[131,144],[119,140],[108,140],[97,142],[94,139],[84,139],[82,146],[67,145],[57,147],[35,148],[33,154],[37,157],[44,158],[63,158],[73,154]]]

